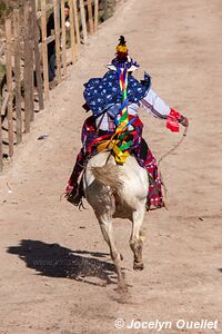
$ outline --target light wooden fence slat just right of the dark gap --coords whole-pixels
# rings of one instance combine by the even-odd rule
[[[57,55],[57,78],[61,81],[61,58],[60,58],[60,12],[58,0],[54,0],[54,38],[56,38],[56,55]]]

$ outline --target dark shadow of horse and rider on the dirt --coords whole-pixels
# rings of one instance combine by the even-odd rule
[[[109,254],[105,253],[71,250],[58,244],[29,239],[21,240],[19,246],[9,247],[8,253],[18,255],[26,262],[27,267],[37,271],[39,275],[71,278],[99,286],[117,282],[111,279],[113,275],[117,277],[115,266],[99,259],[108,258]],[[90,282],[92,277],[104,283],[98,283],[98,279]]]

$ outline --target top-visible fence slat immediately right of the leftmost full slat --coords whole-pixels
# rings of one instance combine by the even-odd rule
[[[14,28],[14,79],[16,79],[16,110],[17,110],[17,144],[22,141],[21,118],[21,43],[20,43],[20,16],[19,9],[13,10]]]

